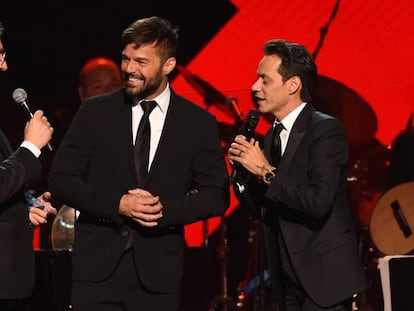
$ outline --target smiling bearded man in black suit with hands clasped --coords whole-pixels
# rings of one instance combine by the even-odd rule
[[[125,88],[82,103],[49,178],[54,197],[80,211],[72,305],[77,311],[177,310],[183,226],[222,215],[229,205],[218,124],[170,88],[178,34],[168,21],[137,20],[124,30],[122,44]],[[135,159],[134,144],[146,137],[138,124],[148,100],[156,102],[149,156]]]

